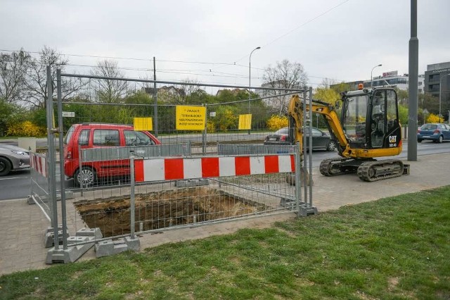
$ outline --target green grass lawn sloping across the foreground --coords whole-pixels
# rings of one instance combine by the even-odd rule
[[[0,299],[450,299],[450,186],[0,277]]]

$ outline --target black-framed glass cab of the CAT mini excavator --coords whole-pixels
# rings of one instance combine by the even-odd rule
[[[392,149],[401,145],[394,89],[361,89],[342,93],[340,122],[351,149]]]

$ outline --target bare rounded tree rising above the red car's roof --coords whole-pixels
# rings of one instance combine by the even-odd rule
[[[124,74],[119,70],[117,61],[99,61],[91,73],[94,76],[120,78]],[[103,103],[119,103],[127,96],[127,82],[115,79],[95,79],[94,91],[98,101]]]

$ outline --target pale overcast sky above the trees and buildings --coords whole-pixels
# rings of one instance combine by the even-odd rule
[[[302,63],[309,85],[408,73],[410,0],[0,0],[0,49],[58,49],[72,65],[117,59],[128,77],[262,83],[264,68]],[[450,61],[450,1],[418,0],[419,74]],[[105,59],[105,58],[103,58]],[[140,70],[134,70],[140,69]],[[89,73],[71,66],[66,71]]]

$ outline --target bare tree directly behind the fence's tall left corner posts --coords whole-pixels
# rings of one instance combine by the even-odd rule
[[[53,82],[53,95],[56,96],[56,70],[60,68],[63,72],[64,66],[68,64],[68,59],[58,53],[56,49],[44,46],[39,52],[39,58],[33,58],[27,74],[26,87],[27,93],[24,101],[44,108],[47,99],[47,66],[51,67],[51,82]],[[75,78],[65,77],[61,80],[62,100],[69,99],[77,92],[83,89],[88,82],[76,80]]]

